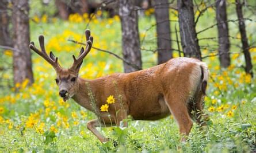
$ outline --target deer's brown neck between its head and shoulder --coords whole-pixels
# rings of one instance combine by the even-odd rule
[[[90,96],[90,93],[92,93],[92,87],[90,87],[90,80],[84,80],[82,78],[78,78],[78,87],[75,91],[75,95],[72,97],[79,105],[82,105],[82,107],[85,107],[89,111],[94,111],[93,108],[93,99]]]

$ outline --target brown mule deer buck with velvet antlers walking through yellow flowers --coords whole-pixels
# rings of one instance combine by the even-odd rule
[[[82,79],[78,76],[79,69],[93,44],[89,30],[86,30],[85,35],[86,49],[81,49],[78,58],[72,56],[74,62],[68,69],[59,65],[58,57],[52,52],[47,55],[44,36],[39,36],[41,50],[33,42],[30,42],[29,47],[56,70],[56,83],[63,100],[72,98],[98,116],[98,119],[88,121],[87,128],[101,142],[107,142],[108,139],[96,127],[110,124],[119,126],[120,121],[128,115],[134,120],[158,120],[172,114],[182,135],[189,134],[192,119],[198,124],[205,124],[202,119],[202,97],[207,87],[208,69],[204,62],[180,57],[137,72],[114,73],[94,80]],[[121,95],[121,100],[109,105],[108,112],[101,112],[101,105],[106,104],[106,98],[110,95]],[[125,121],[124,126],[127,126]]]

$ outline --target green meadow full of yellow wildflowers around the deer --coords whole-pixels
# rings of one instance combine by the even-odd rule
[[[154,10],[148,10],[147,17],[139,19],[140,38],[142,40],[143,68],[156,64],[155,19]],[[177,20],[177,12],[172,11],[171,19]],[[215,23],[214,11],[208,10],[198,22],[197,30]],[[104,14],[103,14],[104,15]],[[98,11],[91,19],[88,29],[94,37],[94,47],[110,50],[121,56],[120,19],[100,18]],[[78,56],[81,45],[68,40],[85,42],[83,32],[89,21],[88,14],[70,15],[68,21],[57,18],[33,16],[30,21],[31,40],[39,46],[37,37],[44,34],[46,49],[53,51],[60,59],[60,64],[68,67],[72,64],[72,54]],[[246,22],[251,42],[256,40],[255,18]],[[174,31],[178,22],[171,22]],[[101,127],[99,130],[106,137],[115,140],[102,144],[86,128],[87,121],[95,115],[80,107],[74,100],[64,102],[58,94],[54,81],[54,69],[40,56],[33,53],[33,73],[35,83],[26,87],[28,81],[16,84],[20,92],[3,89],[0,93],[0,152],[249,152],[255,148],[256,124],[256,87],[255,77],[244,73],[243,54],[240,53],[240,36],[235,23],[230,23],[230,33],[235,39],[231,42],[232,64],[223,69],[217,56],[204,58],[211,78],[204,98],[204,111],[210,119],[205,132],[194,124],[186,143],[179,141],[178,127],[173,116],[158,121],[130,121],[128,128]],[[216,37],[216,28],[198,34],[202,56],[214,55],[217,42],[204,40]],[[175,33],[172,33],[175,40]],[[217,47],[217,46],[216,46]],[[173,48],[177,44],[173,42]],[[254,72],[256,67],[256,48],[251,48]],[[173,52],[178,57],[178,52]],[[12,52],[5,50],[3,59],[11,62]],[[92,49],[83,61],[80,76],[95,79],[115,72],[123,72],[123,61],[116,57]],[[12,78],[12,71],[3,74]],[[117,99],[117,97],[114,97]]]

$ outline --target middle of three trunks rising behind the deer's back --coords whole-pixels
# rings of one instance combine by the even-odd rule
[[[158,45],[158,64],[162,64],[173,57],[171,50],[169,2],[168,0],[154,0],[154,8]]]

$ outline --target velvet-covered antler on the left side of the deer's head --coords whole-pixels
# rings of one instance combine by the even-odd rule
[[[40,48],[41,50],[37,49],[35,46],[34,42],[30,42],[29,44],[29,48],[34,50],[37,54],[39,54],[41,57],[44,58],[44,60],[46,60],[47,62],[49,62],[49,64],[51,64],[56,70],[61,69],[59,63],[58,63],[58,57],[55,57],[54,54],[52,52],[49,53],[49,56],[47,55],[46,51],[45,51],[45,46],[44,46],[44,36],[40,35],[39,36],[39,44],[40,44]]]

